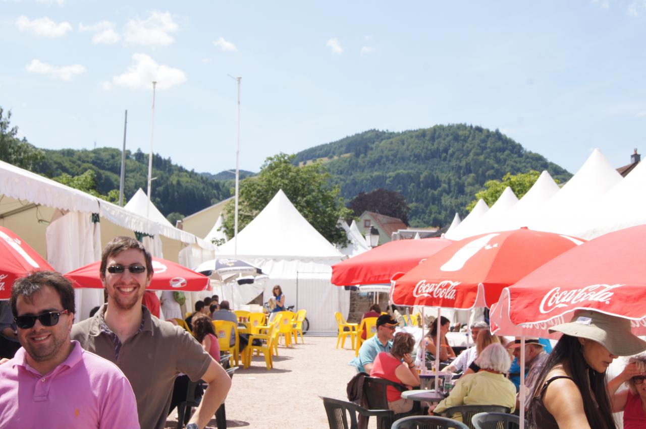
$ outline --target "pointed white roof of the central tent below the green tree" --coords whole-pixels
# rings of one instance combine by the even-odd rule
[[[238,243],[237,253],[234,251]],[[276,259],[336,259],[344,257],[296,210],[282,190],[238,237],[222,244],[218,257],[236,257],[251,262],[256,257]]]

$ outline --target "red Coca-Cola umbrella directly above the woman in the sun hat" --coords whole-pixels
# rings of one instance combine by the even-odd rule
[[[547,337],[550,326],[587,309],[630,319],[634,334],[646,335],[644,255],[646,225],[581,244],[503,290],[492,327],[503,335]]]

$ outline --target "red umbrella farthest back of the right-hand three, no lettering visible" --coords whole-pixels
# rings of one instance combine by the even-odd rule
[[[390,283],[397,272],[407,272],[453,241],[444,238],[395,240],[332,266],[332,284]]]

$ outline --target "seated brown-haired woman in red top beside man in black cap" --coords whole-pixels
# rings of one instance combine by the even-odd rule
[[[415,348],[415,338],[406,332],[397,332],[393,339],[390,352],[381,352],[372,364],[370,377],[379,377],[406,386],[419,386],[419,374],[415,370],[412,352]],[[402,363],[403,360],[403,363]],[[412,399],[402,399],[402,394],[396,388],[386,388],[388,408],[395,413],[406,413],[413,409]]]

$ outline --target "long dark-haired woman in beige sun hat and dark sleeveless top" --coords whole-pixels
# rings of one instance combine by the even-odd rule
[[[630,321],[578,310],[569,323],[550,328],[563,336],[539,376],[528,411],[530,427],[540,429],[616,428],[605,373],[618,356],[646,350],[630,332]]]

